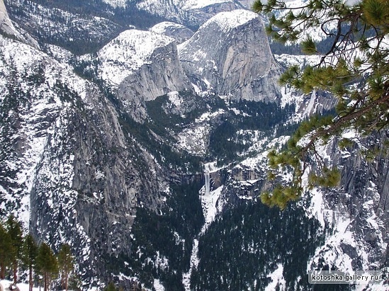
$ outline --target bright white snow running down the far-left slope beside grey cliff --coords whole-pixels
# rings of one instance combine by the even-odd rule
[[[1,95],[1,102],[6,102],[7,96],[12,94],[11,88],[7,85],[9,78],[12,75],[13,81],[17,82],[20,88],[21,96],[40,96],[40,98],[31,98],[29,104],[24,108],[19,108],[19,113],[12,110],[9,116],[21,120],[21,127],[15,135],[11,136],[15,143],[23,144],[23,155],[13,159],[9,156],[7,161],[7,169],[17,170],[16,177],[11,183],[16,183],[20,188],[1,187],[1,195],[5,195],[5,200],[8,202],[21,202],[21,211],[16,215],[28,226],[30,200],[29,193],[33,188],[33,181],[36,175],[36,166],[40,162],[43,150],[47,145],[47,137],[54,132],[55,122],[47,124],[43,128],[40,125],[40,120],[55,118],[61,110],[67,108],[67,105],[62,103],[55,93],[55,86],[57,82],[61,84],[68,84],[69,89],[75,91],[85,99],[86,82],[75,76],[71,69],[50,59],[43,52],[35,50],[29,45],[21,42],[14,42],[6,38],[0,38],[2,43],[2,50],[0,52],[0,72],[2,76],[0,88],[3,94]],[[40,69],[43,70],[43,74]],[[44,84],[40,86],[33,86],[29,84],[28,77],[34,78],[36,74],[41,74],[40,78],[45,80]],[[16,75],[16,76],[15,76]],[[21,101],[22,102],[22,101]],[[23,142],[21,142],[21,139]],[[1,205],[5,209],[4,205]]]

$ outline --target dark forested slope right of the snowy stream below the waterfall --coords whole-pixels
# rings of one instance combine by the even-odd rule
[[[278,264],[286,290],[311,290],[307,261],[323,240],[318,223],[298,207],[281,212],[260,202],[240,202],[201,236],[191,290],[264,290]]]

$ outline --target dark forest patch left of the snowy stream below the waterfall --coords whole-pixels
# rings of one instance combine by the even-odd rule
[[[182,274],[188,271],[193,238],[204,222],[199,188],[196,183],[171,185],[172,194],[163,215],[143,208],[137,210],[132,228],[133,253],[123,259],[131,266],[128,275],[140,278],[145,287],[151,288],[153,278],[159,278],[169,290],[184,290]],[[159,260],[166,258],[168,265],[156,265],[158,256]]]

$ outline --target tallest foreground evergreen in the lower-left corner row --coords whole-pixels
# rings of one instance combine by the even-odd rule
[[[18,281],[18,260],[21,258],[21,246],[23,245],[23,234],[21,223],[16,220],[16,217],[10,215],[6,221],[6,228],[11,236],[12,245],[14,248],[12,267],[13,267],[13,283]]]

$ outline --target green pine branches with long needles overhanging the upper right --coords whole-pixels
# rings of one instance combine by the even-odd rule
[[[254,11],[269,14],[266,28],[271,37],[295,43],[303,38],[301,49],[308,55],[320,55],[315,66],[293,66],[280,82],[303,93],[315,89],[337,97],[336,115],[317,116],[303,122],[282,152],[269,154],[270,178],[292,171],[289,185],[276,185],[261,196],[262,202],[285,208],[303,193],[302,177],[310,169],[308,186],[336,186],[337,168],[326,164],[317,145],[353,129],[361,136],[372,135],[389,127],[389,1],[308,0],[300,7],[288,7],[285,1],[256,0]],[[335,27],[333,29],[333,27]],[[331,40],[320,52],[307,31],[322,30]],[[326,46],[327,47],[327,46]],[[382,144],[375,144],[382,147]],[[276,183],[277,184],[277,183]]]

